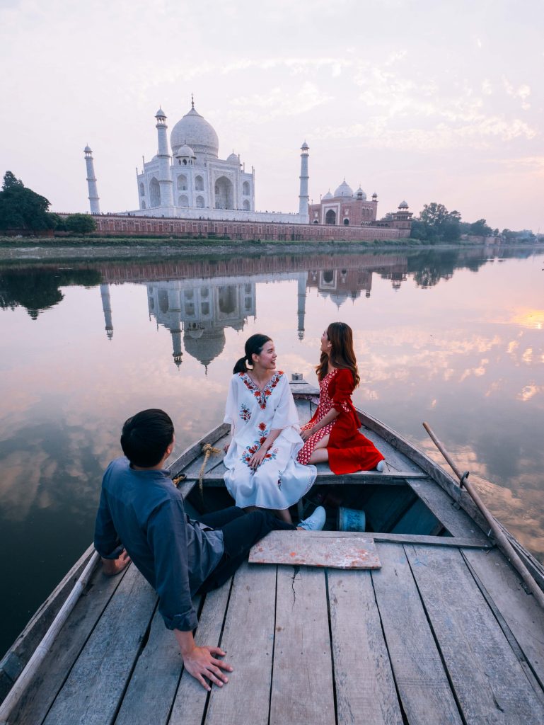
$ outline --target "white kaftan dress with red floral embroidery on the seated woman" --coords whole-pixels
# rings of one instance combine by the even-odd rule
[[[293,394],[285,373],[277,370],[262,390],[247,373],[230,381],[225,411],[233,436],[225,455],[225,484],[240,508],[286,509],[309,491],[317,476],[314,465],[301,465],[296,455],[303,446]],[[257,470],[249,460],[270,431],[281,429]]]

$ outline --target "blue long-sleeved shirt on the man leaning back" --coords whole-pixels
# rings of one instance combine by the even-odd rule
[[[219,563],[223,534],[188,518],[166,471],[134,471],[125,457],[109,464],[94,545],[104,559],[117,559],[127,550],[159,595],[168,629],[196,627],[191,596]]]

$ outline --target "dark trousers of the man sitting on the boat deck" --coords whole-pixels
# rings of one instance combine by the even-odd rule
[[[225,545],[225,552],[219,560],[219,564],[198,589],[203,594],[225,584],[225,581],[233,576],[240,564],[246,560],[251,547],[265,537],[269,531],[277,529],[293,531],[296,529],[293,523],[280,521],[269,511],[257,510],[246,513],[237,506],[224,508],[215,513],[206,513],[199,517],[198,521],[205,523],[210,529],[222,531]]]

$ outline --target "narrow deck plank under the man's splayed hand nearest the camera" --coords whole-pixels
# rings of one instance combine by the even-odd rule
[[[231,581],[229,579],[222,587],[206,595],[195,634],[197,645],[217,647],[221,644]],[[225,659],[228,660],[228,657]],[[207,704],[208,692],[192,675],[183,670],[168,725],[201,725]]]

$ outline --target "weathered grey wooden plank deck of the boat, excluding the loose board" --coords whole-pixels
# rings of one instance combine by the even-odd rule
[[[544,613],[497,550],[414,538],[377,541],[377,571],[242,566],[200,614],[196,641],[234,668],[210,693],[138,571],[114,596],[98,573],[104,592],[78,604],[86,643],[64,674],[46,660],[10,723],[540,725]]]

